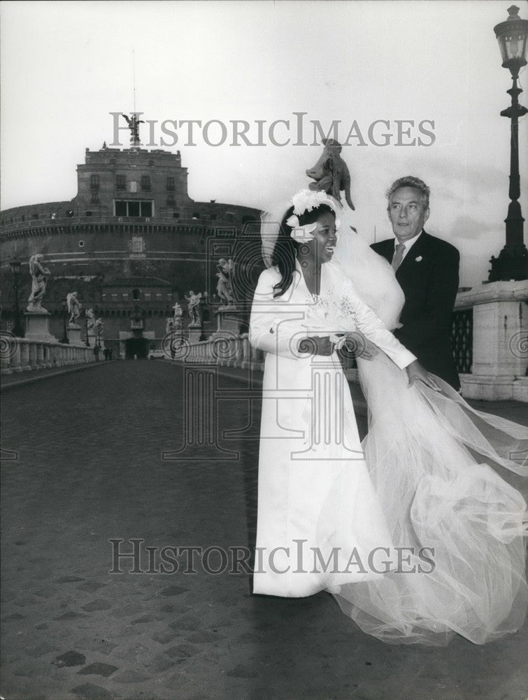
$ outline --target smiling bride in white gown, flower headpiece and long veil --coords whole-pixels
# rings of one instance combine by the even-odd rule
[[[485,643],[519,629],[526,505],[490,464],[526,472],[508,458],[526,430],[474,412],[394,338],[403,293],[359,237],[338,243],[332,197],[302,190],[292,204],[280,225],[263,222],[269,268],[250,320],[266,351],[253,592],[327,590],[392,643],[443,645],[455,632]],[[364,356],[363,444],[343,342]]]

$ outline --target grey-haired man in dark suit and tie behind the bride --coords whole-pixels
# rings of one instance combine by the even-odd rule
[[[387,212],[395,239],[371,246],[396,272],[404,290],[403,324],[394,332],[428,372],[455,389],[460,381],[451,351],[451,317],[458,289],[460,255],[455,246],[424,231],[429,188],[414,176],[402,177],[387,192]]]

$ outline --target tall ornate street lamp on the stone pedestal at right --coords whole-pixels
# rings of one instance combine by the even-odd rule
[[[508,19],[494,27],[502,56],[503,68],[510,69],[513,85],[506,90],[511,95],[511,106],[501,111],[502,117],[511,119],[510,139],[510,204],[506,222],[506,245],[499,257],[492,255],[492,269],[488,281],[508,281],[528,279],[528,251],[523,240],[523,223],[520,197],[519,176],[519,117],[528,110],[519,104],[522,89],[518,86],[519,71],[527,64],[528,20],[518,17],[519,8],[508,8]]]

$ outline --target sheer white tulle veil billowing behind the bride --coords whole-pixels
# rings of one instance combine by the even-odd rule
[[[343,225],[336,257],[364,302],[397,327],[404,296],[386,260]],[[526,503],[497,470],[528,475],[515,459],[527,454],[528,430],[475,411],[438,377],[441,392],[420,382],[408,388],[383,353],[357,364],[369,407],[366,463],[407,573],[332,588],[341,610],[388,643],[445,645],[459,633],[483,644],[520,629]],[[317,528],[326,546],[338,507],[336,484]],[[418,573],[421,547],[434,566]]]

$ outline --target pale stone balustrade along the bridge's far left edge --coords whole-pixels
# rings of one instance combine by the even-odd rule
[[[1,374],[66,367],[95,361],[94,349],[27,338],[2,338]]]

